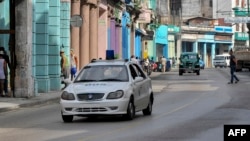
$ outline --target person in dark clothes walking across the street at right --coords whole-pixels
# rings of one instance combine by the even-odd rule
[[[236,66],[237,66],[237,60],[236,60],[235,56],[233,55],[233,50],[232,49],[229,51],[229,55],[230,55],[230,74],[231,74],[231,80],[230,80],[230,82],[228,82],[228,84],[233,84],[234,79],[235,79],[235,83],[238,83],[240,80],[235,75]]]

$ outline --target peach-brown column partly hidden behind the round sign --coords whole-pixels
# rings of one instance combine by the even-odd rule
[[[72,0],[71,1],[71,16],[73,15],[80,15],[80,0]],[[84,19],[84,18],[83,18]],[[84,24],[85,20],[83,20]],[[79,57],[80,57],[80,28],[79,27],[73,27],[71,26],[71,33],[70,33],[70,48],[74,50],[74,53],[76,57],[78,58],[78,64],[79,66]],[[77,68],[78,70],[80,69],[79,67]]]

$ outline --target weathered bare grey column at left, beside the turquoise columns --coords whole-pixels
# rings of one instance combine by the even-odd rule
[[[19,1],[15,7],[16,16],[16,72],[15,97],[32,97],[34,79],[32,77],[32,0]],[[25,33],[25,36],[24,36]]]

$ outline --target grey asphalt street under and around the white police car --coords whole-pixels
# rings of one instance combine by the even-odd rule
[[[75,117],[63,123],[59,103],[0,113],[1,141],[223,141],[225,124],[250,124],[250,73],[237,72],[227,84],[228,68],[200,75],[154,72],[153,113],[120,117]]]

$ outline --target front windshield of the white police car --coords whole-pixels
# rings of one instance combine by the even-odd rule
[[[128,72],[122,65],[98,65],[85,67],[76,77],[74,82],[91,81],[128,81]]]

